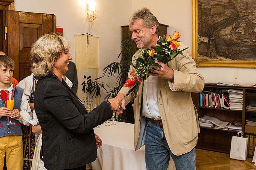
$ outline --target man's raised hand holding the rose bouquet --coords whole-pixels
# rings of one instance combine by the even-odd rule
[[[155,62],[162,67],[159,69],[158,67],[153,66],[154,68],[154,70],[152,71],[153,73],[148,73],[148,75],[154,75],[157,77],[162,77],[163,79],[171,80],[172,74],[174,74],[173,69],[171,69],[170,67],[168,67],[166,64],[162,62],[158,62],[158,61],[155,61]]]

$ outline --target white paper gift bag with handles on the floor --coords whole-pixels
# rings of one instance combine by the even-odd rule
[[[241,134],[241,137],[239,137]],[[248,139],[244,138],[244,133],[239,131],[237,136],[232,136],[230,158],[237,160],[246,160]]]

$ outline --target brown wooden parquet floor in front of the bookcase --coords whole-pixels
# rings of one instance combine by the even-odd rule
[[[230,159],[229,154],[196,149],[197,170],[255,170],[252,158]]]

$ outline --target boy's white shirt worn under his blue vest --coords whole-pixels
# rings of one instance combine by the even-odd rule
[[[11,86],[8,89],[6,89],[9,91],[8,95],[12,95],[12,90],[13,90],[12,82],[10,82],[10,85]],[[0,90],[2,90],[2,89],[0,89]],[[0,92],[0,94],[1,94],[1,92]],[[28,100],[26,99],[24,93],[22,95],[22,99],[20,102],[20,112],[19,113],[20,113],[20,118],[17,120],[20,123],[29,126],[30,125],[29,121],[32,119],[32,113],[31,113],[31,109],[28,104]]]

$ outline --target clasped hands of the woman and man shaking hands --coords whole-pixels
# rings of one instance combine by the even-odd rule
[[[113,99],[108,99],[111,103],[111,109],[117,114],[122,114],[123,110],[125,110],[125,96],[124,94],[118,94]]]

